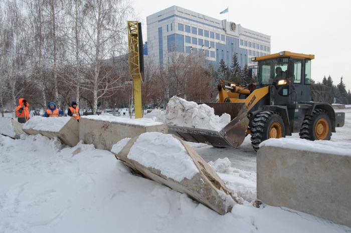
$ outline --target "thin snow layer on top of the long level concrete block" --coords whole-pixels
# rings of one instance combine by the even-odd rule
[[[117,116],[106,116],[106,115],[90,115],[90,116],[82,116],[81,118],[87,118],[92,120],[100,120],[107,121],[110,123],[122,123],[129,125],[138,125],[138,126],[153,126],[153,125],[162,125],[161,122],[153,121],[151,119],[130,119],[125,117],[117,117]]]

